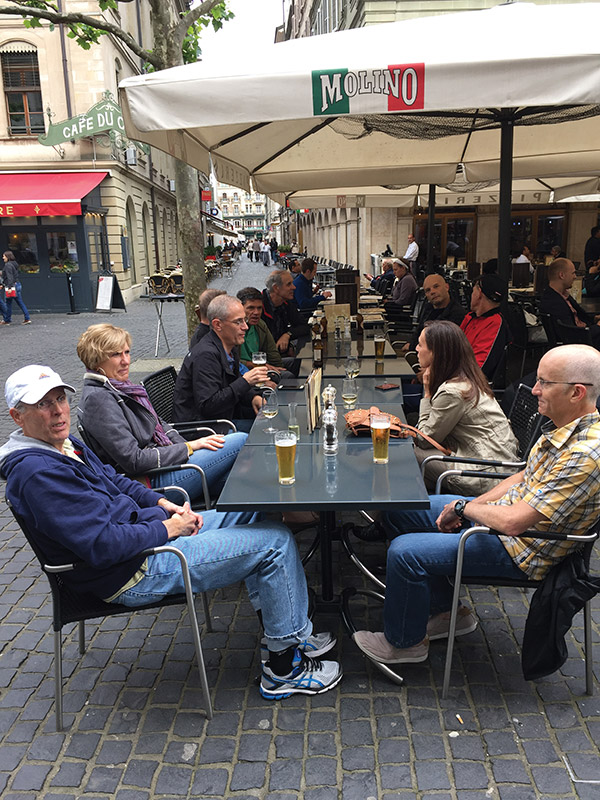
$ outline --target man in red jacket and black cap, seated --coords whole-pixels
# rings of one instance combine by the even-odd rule
[[[488,380],[494,376],[511,339],[500,313],[500,303],[507,294],[508,285],[499,275],[480,275],[473,285],[471,311],[460,324]]]

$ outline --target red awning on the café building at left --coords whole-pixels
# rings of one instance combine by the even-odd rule
[[[108,172],[0,173],[0,219],[81,214],[81,198]]]

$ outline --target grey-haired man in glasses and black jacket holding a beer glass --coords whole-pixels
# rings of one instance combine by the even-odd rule
[[[248,325],[239,300],[228,295],[216,297],[207,316],[211,330],[183,359],[177,376],[174,420],[225,417],[233,420],[238,430],[249,431],[262,403],[254,387],[267,381],[267,368],[243,367],[240,371],[238,347]]]

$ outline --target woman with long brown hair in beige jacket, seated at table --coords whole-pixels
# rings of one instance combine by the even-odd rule
[[[424,370],[419,430],[456,456],[516,460],[517,440],[461,329],[447,321],[426,325],[419,336],[417,353]],[[424,440],[418,445],[415,453],[419,463],[437,452],[428,448]],[[428,489],[433,489],[438,476],[453,466],[450,462],[428,464]],[[493,481],[482,478],[451,476],[443,489],[479,495],[492,485]]]

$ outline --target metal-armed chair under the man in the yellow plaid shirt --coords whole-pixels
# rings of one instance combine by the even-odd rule
[[[585,565],[586,567],[589,567],[590,556],[592,553],[592,549],[594,547],[594,543],[598,538],[599,530],[600,530],[600,520],[596,520],[594,525],[588,530],[588,533],[585,536],[572,536],[561,533],[560,531],[546,531],[545,533],[540,533],[539,531],[525,531],[524,533],[520,534],[520,537],[523,538],[533,537],[536,539],[549,539],[551,541],[567,541],[567,542],[576,542],[578,544],[581,544],[584,547],[583,555],[584,555]],[[456,559],[456,571],[454,574],[454,593],[452,597],[452,608],[450,612],[448,646],[446,648],[446,663],[444,666],[444,682],[442,685],[443,699],[446,699],[446,697],[448,696],[448,687],[450,685],[450,672],[452,670],[452,655],[454,652],[454,637],[456,633],[456,618],[459,608],[461,583],[465,585],[475,585],[475,586],[482,586],[482,585],[508,586],[520,589],[537,588],[543,583],[543,579],[541,581],[534,581],[527,578],[525,573],[523,573],[522,580],[520,578],[511,579],[511,578],[463,576],[462,567],[463,567],[465,545],[469,537],[471,537],[474,533],[486,533],[492,536],[496,535],[495,531],[492,531],[489,528],[480,525],[476,525],[464,531],[464,533],[460,537],[458,545],[458,554]],[[568,557],[569,556],[567,556],[567,558]],[[584,656],[585,656],[585,690],[586,694],[591,695],[593,694],[594,686],[593,686],[593,675],[592,675],[592,668],[593,668],[592,609],[590,601],[588,601],[584,605],[583,614],[584,614],[583,630],[584,630]]]

